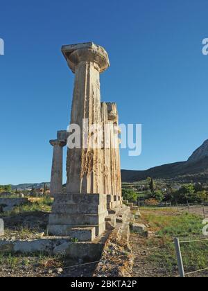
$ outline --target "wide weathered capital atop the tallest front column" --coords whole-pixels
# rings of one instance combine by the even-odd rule
[[[110,67],[110,61],[105,49],[93,42],[62,46],[62,53],[73,73],[75,73],[76,67],[80,62],[94,62],[98,65],[96,69],[100,73]]]

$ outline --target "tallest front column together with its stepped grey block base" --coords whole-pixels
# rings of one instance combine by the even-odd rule
[[[63,46],[62,53],[75,73],[71,127],[80,131],[80,143],[76,148],[70,147],[74,132],[70,132],[69,127],[66,135],[67,191],[54,195],[48,231],[54,236],[92,241],[105,231],[106,194],[108,191],[111,194],[112,184],[116,184],[111,181],[111,162],[116,164],[116,155],[111,149],[105,150],[98,138],[101,132],[106,139],[102,129],[104,123],[108,123],[107,105],[101,109],[100,73],[110,62],[105,49],[92,42]],[[92,126],[96,126],[95,131],[91,131]],[[64,132],[58,133],[58,139],[64,136]]]

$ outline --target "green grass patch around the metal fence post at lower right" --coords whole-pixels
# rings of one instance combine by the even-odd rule
[[[171,209],[148,209],[143,211],[143,220],[157,233],[157,237],[147,241],[147,246],[160,246],[159,249],[150,251],[148,259],[170,274],[178,273],[174,238],[177,237],[180,241],[206,238],[202,235],[204,225],[199,215],[180,214]],[[181,251],[185,272],[208,267],[208,241],[182,243]]]

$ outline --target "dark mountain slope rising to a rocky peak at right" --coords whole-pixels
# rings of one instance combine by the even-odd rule
[[[123,182],[137,182],[147,177],[177,182],[208,182],[208,140],[195,150],[188,161],[180,161],[148,170],[121,170]]]

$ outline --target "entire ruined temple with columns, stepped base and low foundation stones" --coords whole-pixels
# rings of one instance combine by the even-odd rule
[[[69,141],[75,134],[71,126],[58,131],[57,139],[50,141],[54,202],[46,235],[29,240],[7,239],[0,220],[0,253],[67,256],[75,265],[78,260],[101,260],[94,276],[125,276],[132,265],[130,225],[140,213],[137,206],[122,201],[116,104],[101,103],[100,73],[110,62],[104,48],[93,43],[63,46],[62,53],[75,73],[71,126],[78,125],[80,129],[80,147],[70,147]],[[95,131],[91,130],[93,125],[97,126]],[[94,146],[98,144],[101,146]],[[63,191],[66,145],[67,185]],[[2,203],[8,205],[5,199]],[[133,215],[131,211],[137,213]]]

